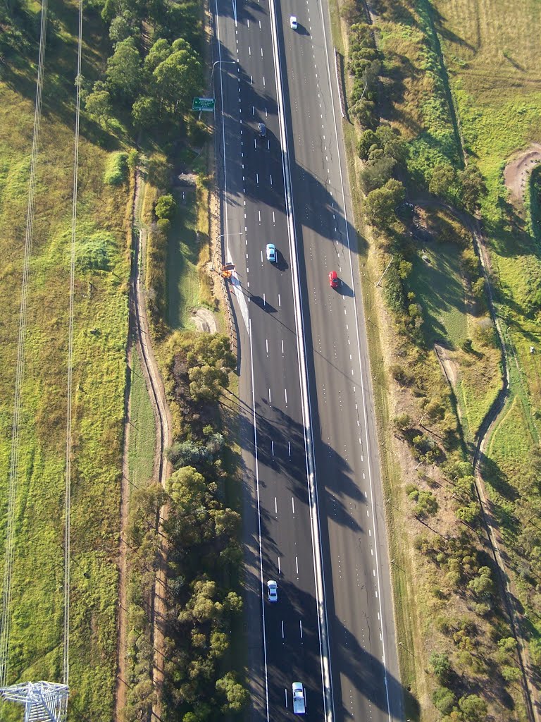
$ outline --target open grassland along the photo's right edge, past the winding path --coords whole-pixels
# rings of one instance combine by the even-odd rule
[[[541,537],[529,520],[535,521],[540,509],[540,174],[532,173],[523,202],[513,204],[503,168],[515,152],[541,140],[541,75],[534,50],[541,24],[529,1],[511,8],[492,0],[485,13],[458,0],[435,5],[465,146],[478,157],[488,189],[481,217],[511,355],[509,400],[485,448],[483,478],[506,542],[513,591],[524,609],[530,658],[539,670]]]

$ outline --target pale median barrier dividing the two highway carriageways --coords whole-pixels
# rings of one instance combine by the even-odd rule
[[[321,677],[323,692],[323,708],[327,722],[333,722],[334,718],[334,698],[332,679],[330,675],[330,648],[327,636],[327,605],[325,603],[325,581],[322,573],[322,552],[320,544],[320,518],[319,507],[317,502],[317,484],[315,464],[312,448],[314,445],[312,439],[310,396],[307,385],[307,356],[304,345],[304,323],[302,313],[302,302],[299,293],[299,269],[297,267],[296,257],[296,239],[294,225],[294,209],[291,199],[291,168],[289,168],[289,155],[287,152],[286,123],[283,115],[283,90],[281,84],[281,64],[280,53],[278,51],[278,40],[276,37],[276,11],[274,0],[269,1],[269,10],[271,14],[271,35],[273,39],[273,64],[276,77],[276,105],[278,108],[278,120],[280,128],[280,137],[282,144],[282,173],[286,188],[286,213],[288,217],[288,241],[289,251],[291,254],[291,285],[293,288],[293,299],[295,309],[295,325],[297,329],[297,357],[299,360],[299,380],[301,384],[301,405],[302,416],[304,421],[304,450],[307,461],[307,484],[310,501],[310,527],[312,530],[312,559],[314,562],[314,575],[317,599],[317,634],[320,640],[320,661],[321,661]],[[299,333],[300,329],[300,333]],[[303,373],[304,372],[304,373]]]

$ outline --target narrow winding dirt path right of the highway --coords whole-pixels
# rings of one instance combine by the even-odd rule
[[[511,624],[513,635],[517,642],[517,655],[519,658],[519,664],[522,671],[522,682],[524,689],[524,696],[527,700],[527,706],[529,711],[529,718],[539,722],[541,700],[539,690],[535,686],[535,668],[532,666],[527,651],[527,644],[522,636],[520,620],[522,614],[519,609],[518,596],[514,592],[514,584],[511,581],[511,575],[507,569],[506,562],[503,557],[501,549],[505,549],[503,539],[500,534],[500,529],[497,522],[497,516],[494,513],[493,503],[486,493],[485,482],[481,476],[480,466],[483,459],[483,451],[488,439],[491,436],[493,429],[496,427],[501,419],[501,412],[506,406],[506,401],[509,397],[509,363],[513,360],[517,363],[514,355],[506,344],[503,328],[501,326],[500,319],[496,314],[496,307],[494,305],[493,290],[491,286],[491,259],[488,253],[485,237],[481,230],[478,219],[472,217],[465,211],[459,211],[454,209],[449,204],[439,201],[432,196],[421,196],[413,201],[418,206],[433,208],[442,208],[447,210],[456,217],[465,227],[467,227],[472,233],[474,240],[475,250],[478,253],[481,266],[483,267],[483,274],[485,276],[488,292],[488,310],[491,313],[494,326],[496,327],[496,333],[500,339],[502,349],[502,367],[503,367],[503,384],[500,389],[498,396],[494,399],[493,404],[483,419],[483,423],[480,425],[477,444],[475,453],[472,458],[472,466],[475,474],[475,490],[478,495],[478,500],[481,505],[483,513],[483,523],[488,536],[488,543],[491,546],[491,552],[496,570],[498,571],[499,583],[501,590],[503,591],[503,601],[506,605],[506,611]]]

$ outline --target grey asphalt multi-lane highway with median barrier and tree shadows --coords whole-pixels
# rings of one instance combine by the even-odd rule
[[[291,718],[291,683],[302,681],[308,719],[402,719],[327,9],[213,0],[211,11],[217,183],[235,264],[252,718]],[[276,243],[276,266],[266,243]],[[271,578],[276,604],[265,599]]]

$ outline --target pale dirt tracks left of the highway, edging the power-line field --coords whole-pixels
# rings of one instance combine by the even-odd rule
[[[141,169],[136,171],[135,192],[133,197],[133,223],[141,226],[140,205],[141,193],[143,192],[143,176]],[[171,443],[171,415],[162,377],[159,373],[154,350],[151,346],[149,334],[149,324],[146,318],[146,304],[144,299],[144,281],[142,279],[141,259],[145,257],[146,229],[141,227],[138,232],[133,231],[133,256],[130,278],[130,331],[133,331],[135,337],[135,345],[139,356],[141,357],[141,366],[143,367],[146,388],[149,391],[151,404],[154,409],[157,427],[157,447],[156,457],[154,459],[154,482],[165,485],[171,470],[170,464],[165,458],[165,448]],[[128,347],[128,353],[131,352],[131,344]],[[128,356],[128,364],[131,361],[131,355]],[[129,391],[127,392],[129,393]],[[115,720],[121,722],[123,708],[126,704],[126,544],[122,542],[122,536],[126,529],[129,508],[129,480],[128,480],[128,442],[129,442],[129,396],[127,400],[127,413],[125,423],[124,437],[124,453],[123,453],[123,479],[121,484],[121,501],[120,501],[120,563],[119,563],[119,606],[118,606],[118,676],[115,697]],[[159,523],[165,518],[166,510],[162,509],[160,513]],[[162,539],[162,537],[160,537]],[[152,682],[154,689],[157,691],[156,702],[153,705],[152,713],[155,717],[160,718],[161,709],[161,692],[163,682],[163,620],[165,612],[165,598],[163,590],[166,588],[166,549],[162,544],[159,550],[159,567],[154,579],[154,590],[152,594],[151,604],[151,641],[154,648],[154,664],[152,669]]]

